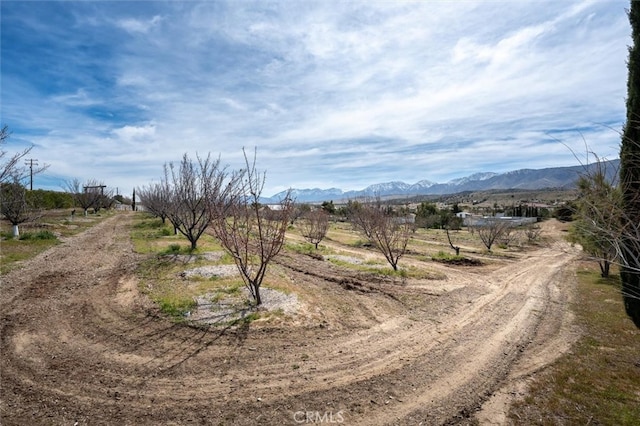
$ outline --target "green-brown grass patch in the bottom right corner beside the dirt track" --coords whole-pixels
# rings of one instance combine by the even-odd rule
[[[619,277],[578,272],[572,309],[583,336],[538,374],[509,417],[517,424],[640,424],[640,330],[627,318]]]

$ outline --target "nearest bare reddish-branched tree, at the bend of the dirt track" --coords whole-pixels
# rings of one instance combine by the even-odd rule
[[[256,306],[262,304],[260,287],[271,260],[284,244],[285,232],[294,206],[291,192],[280,201],[277,210],[260,204],[265,173],[256,170],[256,157],[249,161],[244,152],[246,169],[234,173],[219,203],[211,208],[213,230],[238,271]]]

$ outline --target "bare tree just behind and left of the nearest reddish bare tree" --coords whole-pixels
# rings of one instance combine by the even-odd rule
[[[211,154],[192,161],[184,154],[178,168],[169,164],[172,180],[168,216],[178,232],[197,248],[198,239],[213,220],[212,204],[218,202],[226,172],[220,159],[213,161]]]

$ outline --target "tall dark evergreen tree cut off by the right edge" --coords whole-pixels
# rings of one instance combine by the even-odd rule
[[[620,148],[620,185],[627,229],[640,220],[640,2],[631,0],[629,22],[633,44],[629,48],[627,121]],[[623,237],[622,294],[625,309],[640,328],[640,242],[633,233]]]

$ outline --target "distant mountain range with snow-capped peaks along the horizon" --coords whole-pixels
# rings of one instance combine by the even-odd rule
[[[620,160],[603,162],[610,181],[614,181]],[[436,183],[421,180],[414,184],[394,181],[370,185],[359,191],[342,191],[339,188],[329,189],[292,189],[291,193],[299,203],[319,203],[322,201],[346,201],[363,197],[391,197],[416,195],[446,195],[464,191],[486,191],[494,189],[570,189],[581,175],[593,173],[598,163],[585,166],[551,167],[546,169],[520,169],[506,173],[474,173],[470,176],[453,179],[447,183]],[[272,197],[263,198],[264,203],[277,203],[286,191]]]

